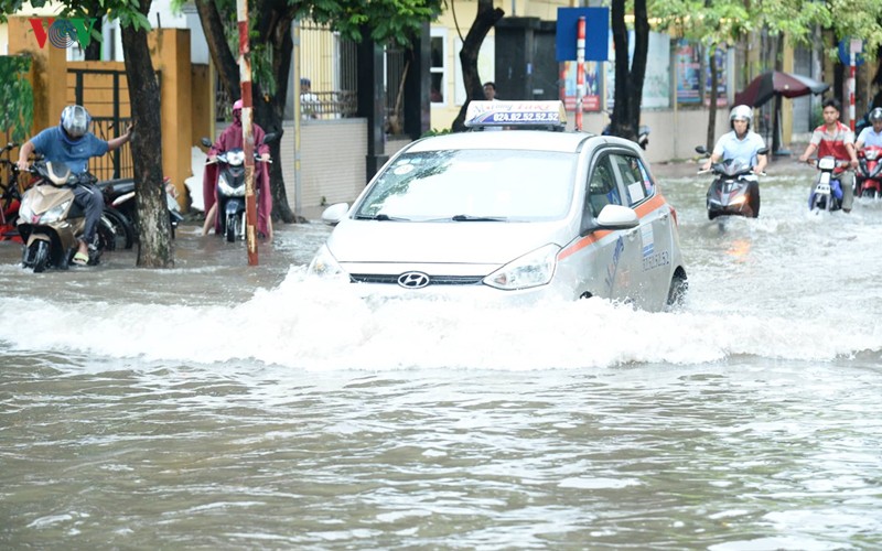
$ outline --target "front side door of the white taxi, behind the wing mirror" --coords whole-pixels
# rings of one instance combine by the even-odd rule
[[[635,270],[639,270],[639,229],[602,229],[596,217],[606,205],[624,205],[624,197],[610,154],[599,150],[585,183],[580,233],[585,246],[580,249],[580,268],[587,293],[623,301],[628,300]]]

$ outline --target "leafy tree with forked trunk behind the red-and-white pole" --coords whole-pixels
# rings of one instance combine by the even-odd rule
[[[179,1],[180,7],[183,2]],[[240,97],[238,51],[228,45],[225,29],[236,20],[233,0],[195,0],[212,61],[218,78],[230,97]],[[251,61],[256,67],[252,83],[255,122],[266,131],[282,131],[282,116],[288,98],[288,79],[293,43],[291,24],[295,19],[325,23],[343,37],[361,42],[369,37],[378,43],[408,46],[419,35],[424,21],[441,11],[442,0],[252,0],[249,3]],[[260,71],[260,67],[267,67]],[[270,145],[279,159],[280,142]],[[280,163],[270,169],[273,219],[294,222],[288,205]]]

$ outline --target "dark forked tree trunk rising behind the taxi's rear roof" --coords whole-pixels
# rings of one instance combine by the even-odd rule
[[[628,63],[624,0],[613,0],[611,19],[613,44],[615,45],[615,105],[613,106],[610,132],[613,136],[636,141],[641,123],[641,100],[646,76],[646,58],[649,51],[649,20],[646,13],[646,0],[634,1],[633,64]]]

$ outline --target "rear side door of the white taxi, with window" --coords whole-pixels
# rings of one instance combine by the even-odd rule
[[[670,208],[657,194],[643,160],[624,150],[610,154],[616,177],[625,190],[625,204],[641,220],[631,236],[639,246],[637,268],[631,280],[635,302],[649,307],[667,298],[670,287],[671,228]]]

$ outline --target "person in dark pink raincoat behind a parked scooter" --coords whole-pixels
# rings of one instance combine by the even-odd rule
[[[269,145],[263,143],[263,129],[252,125],[255,149],[262,161],[269,161]],[[233,123],[226,128],[212,149],[208,150],[208,162],[202,177],[202,196],[205,201],[205,225],[202,235],[208,234],[212,223],[215,233],[220,230],[220,220],[217,216],[217,153],[243,147],[241,139],[241,99],[233,104]],[[257,191],[257,231],[258,235],[272,239],[272,194],[269,190],[269,163],[255,163],[255,188]]]

